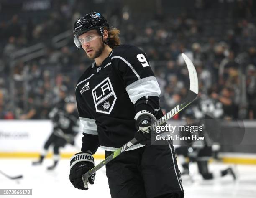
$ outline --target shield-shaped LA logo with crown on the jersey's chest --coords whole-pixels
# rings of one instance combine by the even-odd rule
[[[105,78],[100,84],[92,89],[92,97],[96,112],[110,114],[116,101],[116,95],[113,90],[109,77]]]

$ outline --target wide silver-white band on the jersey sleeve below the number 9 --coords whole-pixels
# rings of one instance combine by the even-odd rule
[[[156,96],[159,97],[161,91],[159,84],[156,81],[156,77],[149,76],[138,81],[133,82],[128,85],[126,91],[129,98],[133,104],[136,103],[138,99],[144,96]]]

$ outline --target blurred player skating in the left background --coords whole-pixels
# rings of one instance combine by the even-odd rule
[[[70,96],[61,100],[49,113],[49,117],[53,122],[53,132],[44,144],[44,150],[41,152],[40,159],[33,162],[32,165],[41,164],[49,146],[53,145],[54,164],[47,168],[48,170],[53,170],[59,161],[59,148],[64,147],[66,144],[74,145],[74,138],[79,131],[79,118],[74,97]]]

